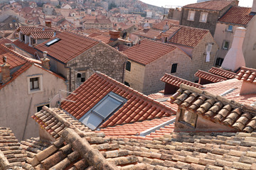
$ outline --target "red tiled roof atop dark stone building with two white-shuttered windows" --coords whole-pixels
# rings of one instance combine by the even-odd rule
[[[200,2],[196,4],[188,4],[186,6],[183,6],[183,8],[200,8],[200,9],[208,9],[208,10],[213,10],[213,11],[220,11],[226,6],[230,5],[232,1],[219,1],[219,0],[214,0],[214,1],[205,1],[205,2]]]

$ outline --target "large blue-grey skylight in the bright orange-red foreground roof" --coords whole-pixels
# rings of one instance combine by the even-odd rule
[[[110,92],[90,109],[90,111],[85,113],[85,115],[80,118],[80,122],[91,130],[95,130],[104,120],[107,120],[107,118],[114,114],[126,102],[127,100],[125,98]]]

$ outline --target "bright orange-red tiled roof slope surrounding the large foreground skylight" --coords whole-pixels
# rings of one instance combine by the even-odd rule
[[[154,101],[138,91],[134,91],[124,84],[107,77],[105,74],[96,72],[84,84],[74,91],[76,95],[70,94],[68,100],[75,103],[63,101],[61,107],[80,119],[87,111],[95,106],[110,91],[127,99],[127,102],[119,108],[105,123],[102,128],[107,126],[121,125],[122,123],[132,123],[152,118],[161,118],[176,113],[171,107]]]

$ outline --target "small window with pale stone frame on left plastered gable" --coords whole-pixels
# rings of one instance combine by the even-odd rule
[[[41,74],[28,76],[28,94],[43,91],[43,77]]]

